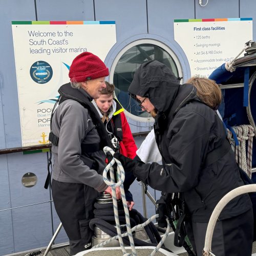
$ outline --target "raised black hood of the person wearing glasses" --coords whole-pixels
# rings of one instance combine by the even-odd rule
[[[167,66],[157,60],[150,60],[137,69],[128,91],[149,98],[159,112],[165,112],[173,104],[179,83]]]

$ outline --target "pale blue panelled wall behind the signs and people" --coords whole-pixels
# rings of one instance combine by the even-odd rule
[[[162,41],[175,52],[186,79],[190,75],[188,62],[174,41],[174,19],[256,19],[254,0],[209,0],[205,7],[201,7],[198,0],[1,0],[0,4],[0,149],[22,144],[11,20],[115,20],[117,43],[105,60],[109,68],[116,54],[127,44],[136,39],[152,38]],[[255,30],[256,26],[253,28],[254,40]],[[133,126],[132,129],[143,131],[143,128],[136,130]],[[137,144],[140,143],[138,139]],[[38,178],[31,188],[24,187],[21,182],[28,172]],[[46,175],[47,153],[0,155],[0,255],[48,245],[59,220],[51,208],[50,191],[44,189]],[[132,189],[139,191],[140,187],[134,183]],[[135,198],[135,203],[142,212],[140,196]],[[151,216],[154,207],[150,202],[147,205],[148,216]],[[66,241],[62,230],[56,242]]]

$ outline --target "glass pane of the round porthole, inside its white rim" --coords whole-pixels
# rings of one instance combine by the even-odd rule
[[[161,47],[153,44],[140,44],[127,50],[117,62],[113,83],[115,84],[115,94],[123,108],[138,117],[148,117],[149,114],[139,108],[127,91],[135,71],[148,60],[158,60],[164,63],[178,77],[178,69],[174,59]]]

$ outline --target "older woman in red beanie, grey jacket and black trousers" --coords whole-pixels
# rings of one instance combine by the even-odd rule
[[[70,67],[71,82],[58,90],[58,107],[52,116],[52,196],[70,240],[71,255],[91,248],[89,222],[94,217],[94,201],[101,191],[112,193],[102,178],[102,149],[110,142],[91,102],[106,87],[108,75],[109,69],[99,57],[89,52],[79,54]]]

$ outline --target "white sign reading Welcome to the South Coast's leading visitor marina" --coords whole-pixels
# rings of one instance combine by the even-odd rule
[[[115,22],[12,22],[22,146],[49,143],[58,88],[72,60],[92,52],[102,61],[116,43]],[[103,40],[102,40],[103,38]]]

